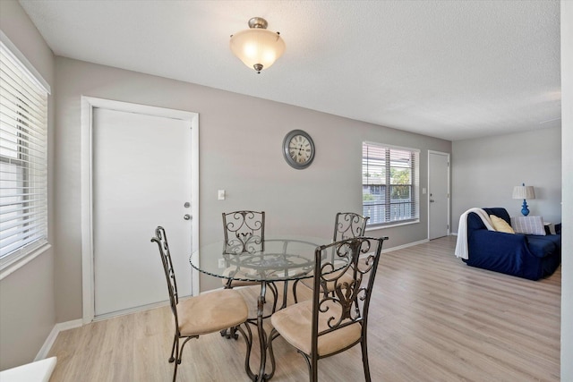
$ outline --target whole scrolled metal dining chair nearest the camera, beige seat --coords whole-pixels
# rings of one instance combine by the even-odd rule
[[[364,378],[370,381],[368,364],[368,310],[382,243],[387,237],[355,237],[322,245],[315,250],[312,299],[278,310],[270,317],[269,334],[272,374],[275,371],[273,342],[282,336],[304,356],[309,379],[318,380],[318,361],[356,344],[362,348]],[[335,258],[332,259],[331,252]],[[363,258],[362,258],[363,257]],[[343,272],[336,272],[338,261],[347,260]],[[343,275],[351,281],[342,281]],[[334,284],[334,294],[325,293],[326,284]]]

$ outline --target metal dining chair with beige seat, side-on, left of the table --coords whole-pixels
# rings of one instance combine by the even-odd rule
[[[227,327],[233,327],[244,337],[247,346],[244,361],[246,367],[252,348],[252,332],[249,325],[246,324],[249,310],[243,296],[236,291],[223,289],[179,301],[167,234],[162,226],[156,228],[155,236],[151,238],[151,242],[158,244],[159,256],[167,280],[171,311],[175,318],[175,335],[169,357],[169,362],[175,362],[173,381],[175,382],[177,377],[177,366],[181,364],[185,344],[192,338],[216,333],[222,329],[227,329]],[[241,327],[242,324],[246,327],[246,331]],[[181,340],[184,341],[180,346]]]

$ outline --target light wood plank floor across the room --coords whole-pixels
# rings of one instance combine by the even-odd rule
[[[559,381],[560,268],[537,282],[501,275],[467,267],[455,244],[445,237],[382,254],[369,320],[372,381]],[[258,292],[241,290],[253,308]],[[299,294],[310,296],[304,286]],[[58,358],[50,381],[171,380],[172,325],[165,307],[66,330],[49,352]],[[274,348],[273,381],[308,380],[290,345],[278,339]],[[192,340],[177,380],[247,381],[244,349],[243,339],[218,334]],[[319,361],[319,379],[363,380],[360,347]]]

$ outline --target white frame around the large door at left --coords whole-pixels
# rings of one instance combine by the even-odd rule
[[[81,96],[81,295],[82,321],[88,324],[95,315],[93,258],[93,109],[155,115],[188,121],[191,125],[191,214],[192,251],[199,249],[199,114],[184,110],[146,106],[105,98]],[[151,234],[151,232],[150,232]],[[199,272],[192,267],[192,294],[199,294]]]

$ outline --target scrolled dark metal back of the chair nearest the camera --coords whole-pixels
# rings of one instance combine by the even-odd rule
[[[361,340],[365,338],[372,286],[382,243],[387,239],[355,237],[323,245],[315,251],[312,352],[317,351],[319,336],[356,323],[362,326]],[[340,269],[342,262],[346,266]],[[351,280],[344,275],[352,276]],[[328,327],[321,331],[319,315],[330,315]]]

